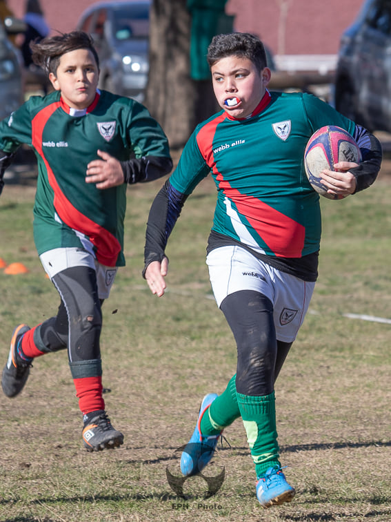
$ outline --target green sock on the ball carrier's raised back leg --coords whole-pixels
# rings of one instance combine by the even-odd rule
[[[201,418],[200,427],[203,435],[217,435],[240,417],[235,378],[236,375],[232,377],[225,391],[214,399]]]

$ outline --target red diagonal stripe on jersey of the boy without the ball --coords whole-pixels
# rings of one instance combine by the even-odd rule
[[[57,183],[56,177],[50,168],[48,160],[43,154],[42,149],[42,135],[43,128],[48,122],[50,116],[54,113],[57,108],[61,106],[60,101],[55,101],[53,104],[46,106],[41,110],[32,120],[32,145],[41,156],[48,172],[49,184],[54,191],[54,209],[56,209],[59,218],[70,226],[71,229],[77,230],[83,234],[86,234],[90,241],[97,248],[97,260],[106,265],[107,267],[114,267],[119,252],[121,251],[121,245],[117,238],[112,235],[102,226],[95,223],[94,221],[87,218],[78,211],[72,203],[66,198],[66,195],[61,191],[59,184]]]

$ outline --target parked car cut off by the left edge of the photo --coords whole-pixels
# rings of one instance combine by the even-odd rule
[[[8,39],[9,33],[21,32],[24,26],[17,19],[0,21],[0,119],[10,115],[23,102],[21,56]]]

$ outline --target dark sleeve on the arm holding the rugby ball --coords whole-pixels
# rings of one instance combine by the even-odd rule
[[[379,139],[374,137],[374,135],[365,128],[356,125],[356,131],[354,132],[353,137],[361,150],[361,155],[363,156],[363,160],[359,166],[350,168],[349,170],[349,172],[356,177],[356,192],[359,192],[368,189],[368,186],[372,185],[374,180],[376,180],[380,171],[383,152],[381,150]]]

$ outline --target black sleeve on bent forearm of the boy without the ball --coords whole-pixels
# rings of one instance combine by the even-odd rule
[[[172,169],[172,160],[170,157],[143,156],[138,160],[133,158],[121,162],[121,167],[125,183],[149,182],[168,174]]]

